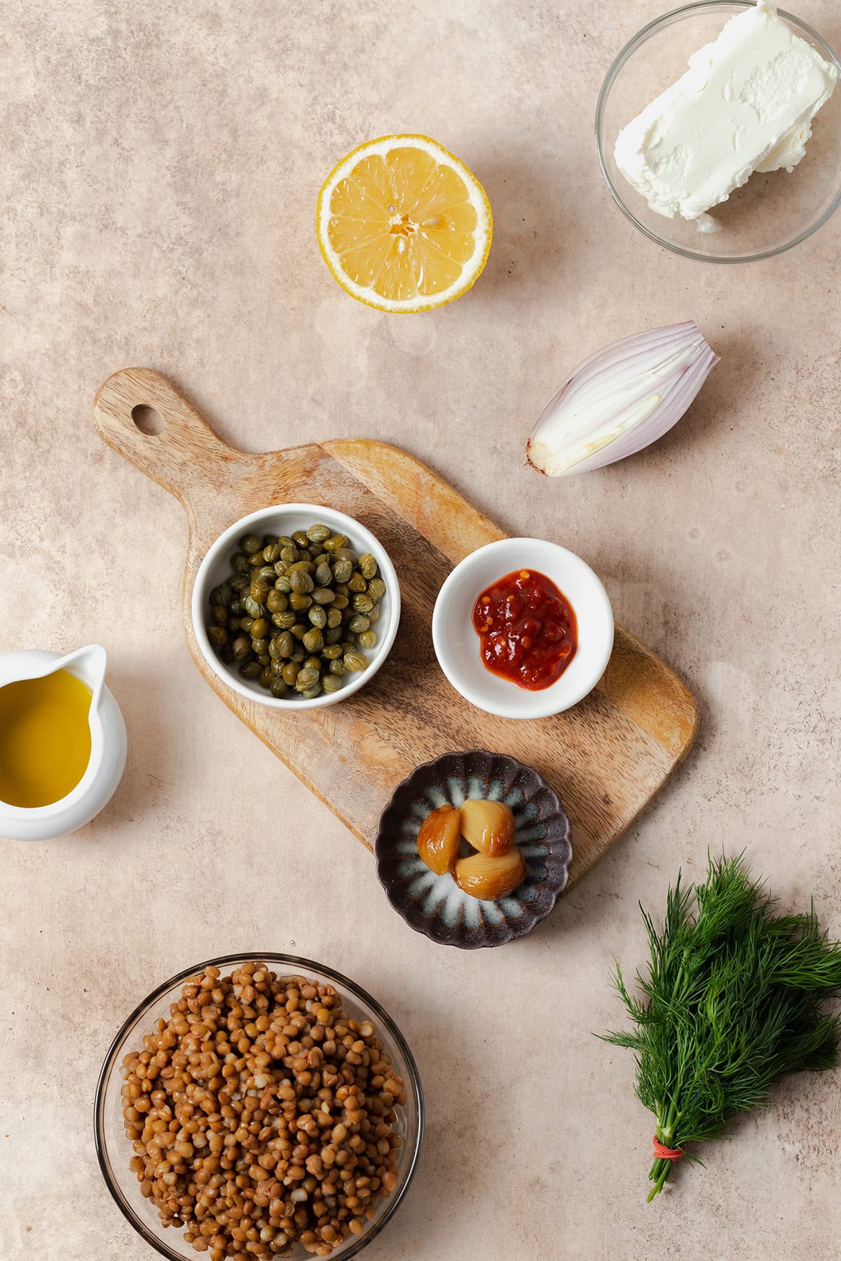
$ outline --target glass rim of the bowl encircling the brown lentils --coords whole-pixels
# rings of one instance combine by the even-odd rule
[[[361,985],[352,981],[343,972],[337,972],[335,968],[328,967],[324,963],[319,963],[311,958],[303,958],[300,955],[280,955],[276,951],[256,951],[256,952],[236,952],[233,955],[221,955],[217,958],[208,958],[203,963],[197,963],[193,967],[185,967],[174,976],[170,976],[168,981],[163,981],[158,985],[150,994],[142,999],[131,1014],[122,1021],[116,1035],[111,1040],[107,1052],[105,1053],[105,1059],[102,1061],[102,1068],[97,1077],[96,1092],[93,1096],[93,1141],[96,1148],[96,1158],[100,1165],[100,1171],[102,1174],[103,1182],[113,1199],[115,1204],[126,1218],[126,1221],[134,1227],[134,1229],[140,1235],[145,1243],[155,1248],[159,1256],[166,1257],[166,1261],[183,1261],[178,1252],[174,1252],[168,1243],[163,1240],[156,1240],[151,1232],[146,1228],[145,1223],[135,1214],[134,1209],[129,1202],[122,1195],[120,1188],[115,1185],[115,1180],[111,1177],[111,1170],[108,1168],[108,1160],[106,1158],[106,1144],[103,1140],[103,1110],[105,1110],[105,1092],[107,1078],[115,1068],[116,1063],[116,1050],[120,1042],[126,1035],[131,1025],[146,1011],[153,1004],[155,1004],[163,995],[177,985],[183,984],[188,977],[195,976],[197,972],[202,972],[206,967],[226,967],[227,965],[250,962],[255,960],[257,962],[266,962],[270,966],[274,965],[291,965],[295,972],[305,973],[306,968],[313,968],[320,972],[323,976],[329,977],[330,984],[335,984],[337,989],[343,987],[348,990],[354,997],[362,1000],[363,1004],[371,1008],[381,1024],[387,1029],[388,1035],[397,1044],[397,1048],[406,1061],[409,1068],[409,1083],[411,1084],[411,1091],[415,1097],[415,1106],[417,1108],[417,1135],[412,1146],[409,1166],[406,1174],[392,1197],[390,1197],[388,1204],[386,1206],[382,1216],[378,1221],[371,1223],[371,1228],[364,1231],[363,1235],[356,1241],[352,1247],[344,1252],[339,1253],[340,1261],[351,1261],[352,1257],[358,1256],[358,1253],[367,1247],[367,1245],[380,1235],[382,1228],[387,1222],[391,1221],[397,1211],[398,1204],[402,1202],[403,1195],[409,1190],[409,1187],[417,1170],[417,1161],[420,1159],[420,1151],[424,1141],[424,1091],[421,1087],[420,1073],[417,1071],[417,1064],[415,1063],[415,1057],[409,1049],[409,1043],[403,1038],[398,1026],[395,1024],[392,1018],[388,1015],[386,1009],[372,997],[367,990],[363,990]]]

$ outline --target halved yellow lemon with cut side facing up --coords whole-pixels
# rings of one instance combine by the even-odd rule
[[[383,311],[459,298],[490,250],[479,180],[429,136],[382,136],[334,166],[318,194],[318,242],[345,293]]]

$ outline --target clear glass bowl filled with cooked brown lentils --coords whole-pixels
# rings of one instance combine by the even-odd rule
[[[228,955],[158,986],[96,1090],[106,1185],[169,1261],[349,1261],[396,1212],[422,1134],[397,1025],[289,955]]]

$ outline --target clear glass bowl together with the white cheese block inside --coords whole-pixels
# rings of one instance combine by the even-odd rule
[[[658,245],[709,262],[791,248],[841,204],[841,62],[773,0],[700,0],[608,71],[599,164]]]

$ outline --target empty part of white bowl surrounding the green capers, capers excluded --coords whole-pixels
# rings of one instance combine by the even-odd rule
[[[243,535],[255,533],[260,535],[260,537],[264,535],[291,535],[295,530],[308,530],[316,523],[329,526],[335,533],[345,535],[349,540],[349,546],[357,555],[371,552],[377,561],[380,576],[386,584],[386,594],[380,601],[382,613],[376,625],[380,638],[373,648],[366,649],[366,656],[371,661],[368,668],[359,671],[357,675],[347,676],[347,681],[343,682],[338,692],[322,692],[320,696],[315,696],[313,700],[304,700],[303,697],[293,700],[285,696],[272,696],[270,691],[261,687],[255,680],[243,678],[237,666],[227,666],[216,654],[207,637],[211,590],[231,574],[231,557],[240,550],[238,543]],[[325,705],[335,705],[337,701],[343,701],[348,696],[353,696],[354,692],[358,692],[361,687],[364,687],[373,678],[382,666],[395,642],[400,623],[400,584],[397,583],[397,574],[386,549],[374,538],[369,530],[361,526],[353,517],[347,517],[343,512],[337,512],[335,508],[325,508],[320,503],[279,503],[271,508],[260,508],[258,512],[251,512],[247,517],[241,517],[223,535],[219,535],[199,565],[198,574],[195,575],[192,610],[193,629],[202,649],[202,656],[213,672],[223,682],[228,683],[229,687],[233,687],[235,692],[240,692],[241,696],[246,696],[251,701],[260,701],[261,705],[269,705],[271,709],[322,709]]]

